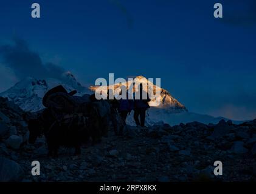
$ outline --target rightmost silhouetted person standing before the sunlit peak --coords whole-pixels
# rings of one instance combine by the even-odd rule
[[[145,92],[143,90],[142,84],[139,85],[139,99],[134,99],[134,120],[136,122],[137,126],[144,127],[145,126],[145,117],[146,117],[146,110],[150,108],[148,105],[148,102],[150,101],[150,98],[143,99],[143,93]],[[139,121],[140,117],[140,121]]]

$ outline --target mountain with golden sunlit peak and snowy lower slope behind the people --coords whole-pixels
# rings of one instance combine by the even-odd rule
[[[133,81],[126,81],[125,83],[102,86],[101,90],[102,90],[102,93],[106,93],[109,87],[112,86],[114,90],[119,91],[121,85],[126,85],[126,90],[128,90],[130,89],[131,84],[137,81],[145,85],[147,85],[147,82],[149,84],[153,84],[152,82],[148,81],[148,79],[145,78],[144,76],[137,76],[136,78],[134,78]],[[187,123],[187,122],[193,122],[193,121],[198,121],[206,124],[209,124],[209,123],[216,124],[221,119],[224,119],[226,121],[228,120],[226,118],[221,118],[221,117],[215,118],[209,115],[201,115],[198,113],[189,112],[187,108],[184,105],[182,105],[181,102],[179,102],[177,99],[173,98],[173,96],[171,96],[171,94],[167,90],[162,89],[154,84],[153,84],[153,87],[161,91],[161,95],[160,95],[161,103],[156,107],[151,106],[150,109],[148,109],[146,120],[145,120],[146,125],[153,125],[158,122],[164,122],[170,125],[176,125],[176,124],[180,124],[181,122]],[[99,86],[90,87],[92,91],[95,91],[98,88]],[[136,125],[133,119],[133,112],[131,112],[131,114],[127,116],[126,123],[129,125]]]

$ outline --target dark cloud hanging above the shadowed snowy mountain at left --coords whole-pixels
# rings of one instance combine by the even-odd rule
[[[0,45],[0,56],[5,66],[13,70],[16,78],[61,78],[64,69],[53,63],[43,64],[40,55],[30,50],[26,41],[15,38],[13,43]]]

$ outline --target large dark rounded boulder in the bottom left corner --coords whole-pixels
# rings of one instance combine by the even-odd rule
[[[0,156],[0,182],[21,181],[23,175],[18,163]]]

